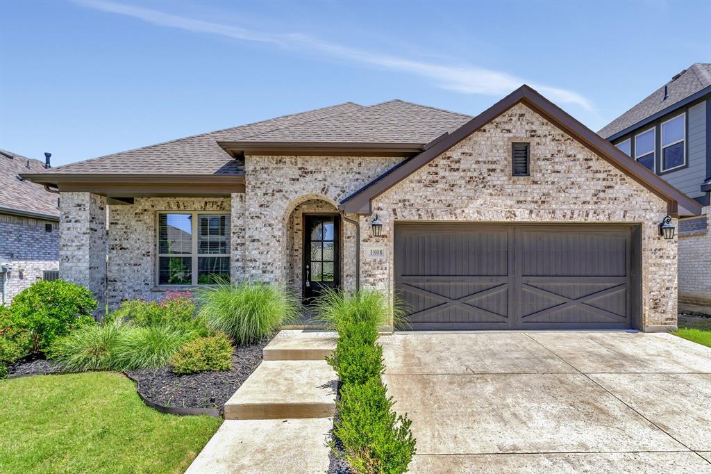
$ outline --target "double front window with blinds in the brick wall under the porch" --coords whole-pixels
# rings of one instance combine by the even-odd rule
[[[183,215],[190,216],[191,252],[169,253],[167,242],[167,216]],[[166,216],[165,226],[163,217]],[[222,278],[230,278],[230,215],[223,211],[191,211],[191,212],[171,212],[160,211],[157,213],[156,228],[156,285],[159,286],[190,286],[190,285],[211,285],[218,283],[218,279],[210,277],[213,270],[218,270]],[[201,226],[201,223],[205,223]],[[161,238],[164,239],[161,242]],[[184,236],[181,238],[184,239]],[[185,241],[181,242],[181,250],[184,250]],[[205,243],[201,248],[201,243]],[[163,245],[161,245],[163,244]],[[213,251],[214,249],[218,251]],[[204,251],[203,251],[204,250]],[[190,259],[190,280],[191,283],[161,283],[161,258],[181,258]],[[171,260],[169,260],[170,262]],[[185,265],[186,260],[173,265]],[[201,265],[202,264],[202,265]],[[170,263],[169,263],[170,265]],[[187,266],[187,265],[186,265]],[[169,270],[169,269],[168,269]],[[170,270],[169,270],[170,271]]]

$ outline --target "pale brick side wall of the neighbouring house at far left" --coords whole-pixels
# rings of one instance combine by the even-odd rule
[[[52,231],[47,232],[45,225]],[[59,270],[59,223],[43,219],[0,214],[0,260],[10,263],[7,278],[0,274],[0,302],[9,305],[12,298],[48,270]],[[3,278],[7,278],[3,293]]]

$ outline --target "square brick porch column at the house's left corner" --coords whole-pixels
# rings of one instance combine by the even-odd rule
[[[60,194],[59,274],[88,288],[99,307],[106,302],[106,198],[84,192]]]

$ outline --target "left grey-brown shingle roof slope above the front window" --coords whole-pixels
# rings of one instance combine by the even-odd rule
[[[217,130],[108,154],[83,162],[48,170],[51,174],[240,174],[240,163],[218,145],[218,141],[237,141],[279,127],[288,127],[321,117],[358,110],[362,106],[347,102],[332,107],[284,115],[240,127]]]

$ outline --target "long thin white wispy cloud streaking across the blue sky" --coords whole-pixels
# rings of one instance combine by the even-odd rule
[[[132,16],[133,18],[160,26],[180,28],[193,33],[209,33],[234,38],[240,41],[270,43],[279,48],[292,50],[302,49],[304,51],[322,53],[336,59],[396,70],[402,73],[410,73],[422,78],[434,80],[434,85],[439,88],[454,90],[459,93],[501,96],[510,93],[525,83],[525,80],[522,78],[496,70],[478,68],[472,65],[437,64],[389,56],[373,51],[329,43],[302,33],[253,31],[238,26],[215,23],[213,21],[202,21],[167,14],[154,9],[146,9],[141,6],[119,4],[114,1],[75,0],[75,3],[100,11]],[[592,103],[587,100],[587,98],[571,90],[553,88],[548,85],[535,83],[529,83],[529,85],[547,96],[547,98],[550,98],[553,102],[575,104],[583,107],[585,110],[593,110]]]

